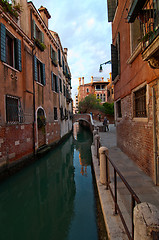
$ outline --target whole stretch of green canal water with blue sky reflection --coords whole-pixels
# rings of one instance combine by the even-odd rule
[[[88,131],[0,184],[0,240],[96,240]]]

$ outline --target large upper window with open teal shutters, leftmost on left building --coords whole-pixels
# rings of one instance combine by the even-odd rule
[[[7,63],[11,67],[14,67],[18,71],[22,71],[21,62],[21,41],[10,32],[1,23],[0,31],[0,45],[1,45],[1,61]]]

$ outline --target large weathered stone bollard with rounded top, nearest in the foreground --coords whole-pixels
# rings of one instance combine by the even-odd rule
[[[150,203],[134,208],[134,240],[159,239],[159,210]]]

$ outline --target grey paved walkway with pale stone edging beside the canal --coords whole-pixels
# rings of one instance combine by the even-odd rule
[[[95,125],[98,125],[98,123],[96,122]],[[101,145],[109,150],[109,158],[115,163],[140,201],[151,203],[159,208],[159,187],[155,186],[151,178],[116,146],[115,126],[110,124],[109,129],[109,132],[99,133]],[[93,166],[108,236],[110,239],[128,239],[126,234],[124,234],[124,228],[119,216],[114,216],[113,214],[114,204],[110,192],[99,181],[99,166],[94,153],[94,146],[92,146]],[[110,180],[113,185],[112,176],[113,171],[110,167]],[[131,231],[131,197],[121,181],[118,181],[118,203]]]

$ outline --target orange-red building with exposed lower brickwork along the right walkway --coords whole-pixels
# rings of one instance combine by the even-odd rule
[[[159,184],[158,12],[155,0],[108,0],[117,144],[156,184]]]

